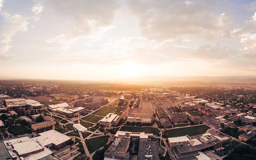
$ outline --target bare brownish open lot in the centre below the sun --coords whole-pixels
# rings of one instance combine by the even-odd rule
[[[150,101],[142,100],[139,108],[129,108],[128,113],[133,114],[135,117],[141,118],[153,118],[152,104]]]

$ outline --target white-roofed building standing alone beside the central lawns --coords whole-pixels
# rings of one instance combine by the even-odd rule
[[[112,125],[117,125],[117,121],[119,122],[120,119],[120,116],[113,113],[108,113],[107,116],[99,120],[99,123],[100,125],[104,125],[105,127],[111,127]]]

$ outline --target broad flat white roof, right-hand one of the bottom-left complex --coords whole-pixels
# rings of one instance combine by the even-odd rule
[[[69,139],[70,137],[66,136],[65,134],[62,134],[60,132],[57,132],[55,130],[50,130],[46,132],[39,133],[40,136],[32,138],[33,140],[38,141],[42,146],[47,146],[51,143],[55,145],[59,145]]]

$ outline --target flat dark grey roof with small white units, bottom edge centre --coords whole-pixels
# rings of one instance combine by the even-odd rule
[[[158,151],[155,141],[140,142],[137,160],[160,160]]]

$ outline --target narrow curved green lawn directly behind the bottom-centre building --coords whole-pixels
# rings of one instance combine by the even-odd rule
[[[128,132],[145,132],[145,133],[153,133],[157,135],[160,131],[154,127],[131,127],[131,126],[123,126],[120,131],[128,131]]]

